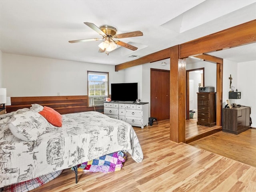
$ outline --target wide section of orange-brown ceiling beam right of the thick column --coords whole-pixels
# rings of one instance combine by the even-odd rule
[[[180,59],[256,42],[256,20],[252,20],[180,45]]]

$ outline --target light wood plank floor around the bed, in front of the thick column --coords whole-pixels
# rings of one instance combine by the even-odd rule
[[[184,143],[169,140],[169,120],[134,127],[144,159],[128,154],[122,170],[78,173],[66,169],[33,192],[245,192],[256,191],[256,168]]]

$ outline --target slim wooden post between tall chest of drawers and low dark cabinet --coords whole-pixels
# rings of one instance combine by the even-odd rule
[[[222,126],[223,60],[217,63],[216,77],[216,125]]]

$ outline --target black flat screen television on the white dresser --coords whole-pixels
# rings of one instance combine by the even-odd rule
[[[138,83],[112,83],[112,101],[133,101],[138,99]]]

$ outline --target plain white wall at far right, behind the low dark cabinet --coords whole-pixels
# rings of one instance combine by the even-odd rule
[[[256,127],[256,61],[238,63],[237,72],[237,87],[241,92],[241,99],[236,100],[236,104],[251,107],[251,126]]]

